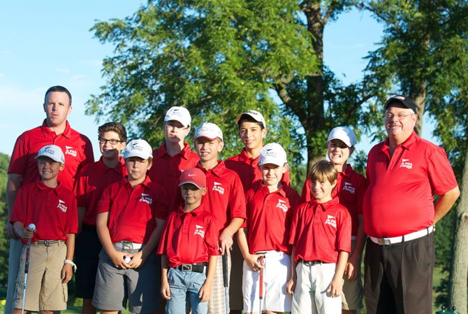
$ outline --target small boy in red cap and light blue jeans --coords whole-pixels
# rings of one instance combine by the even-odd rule
[[[205,173],[187,169],[180,178],[184,207],[171,212],[161,236],[161,295],[166,313],[185,313],[189,294],[192,313],[207,313],[217,266],[218,229],[210,210],[201,204]]]

